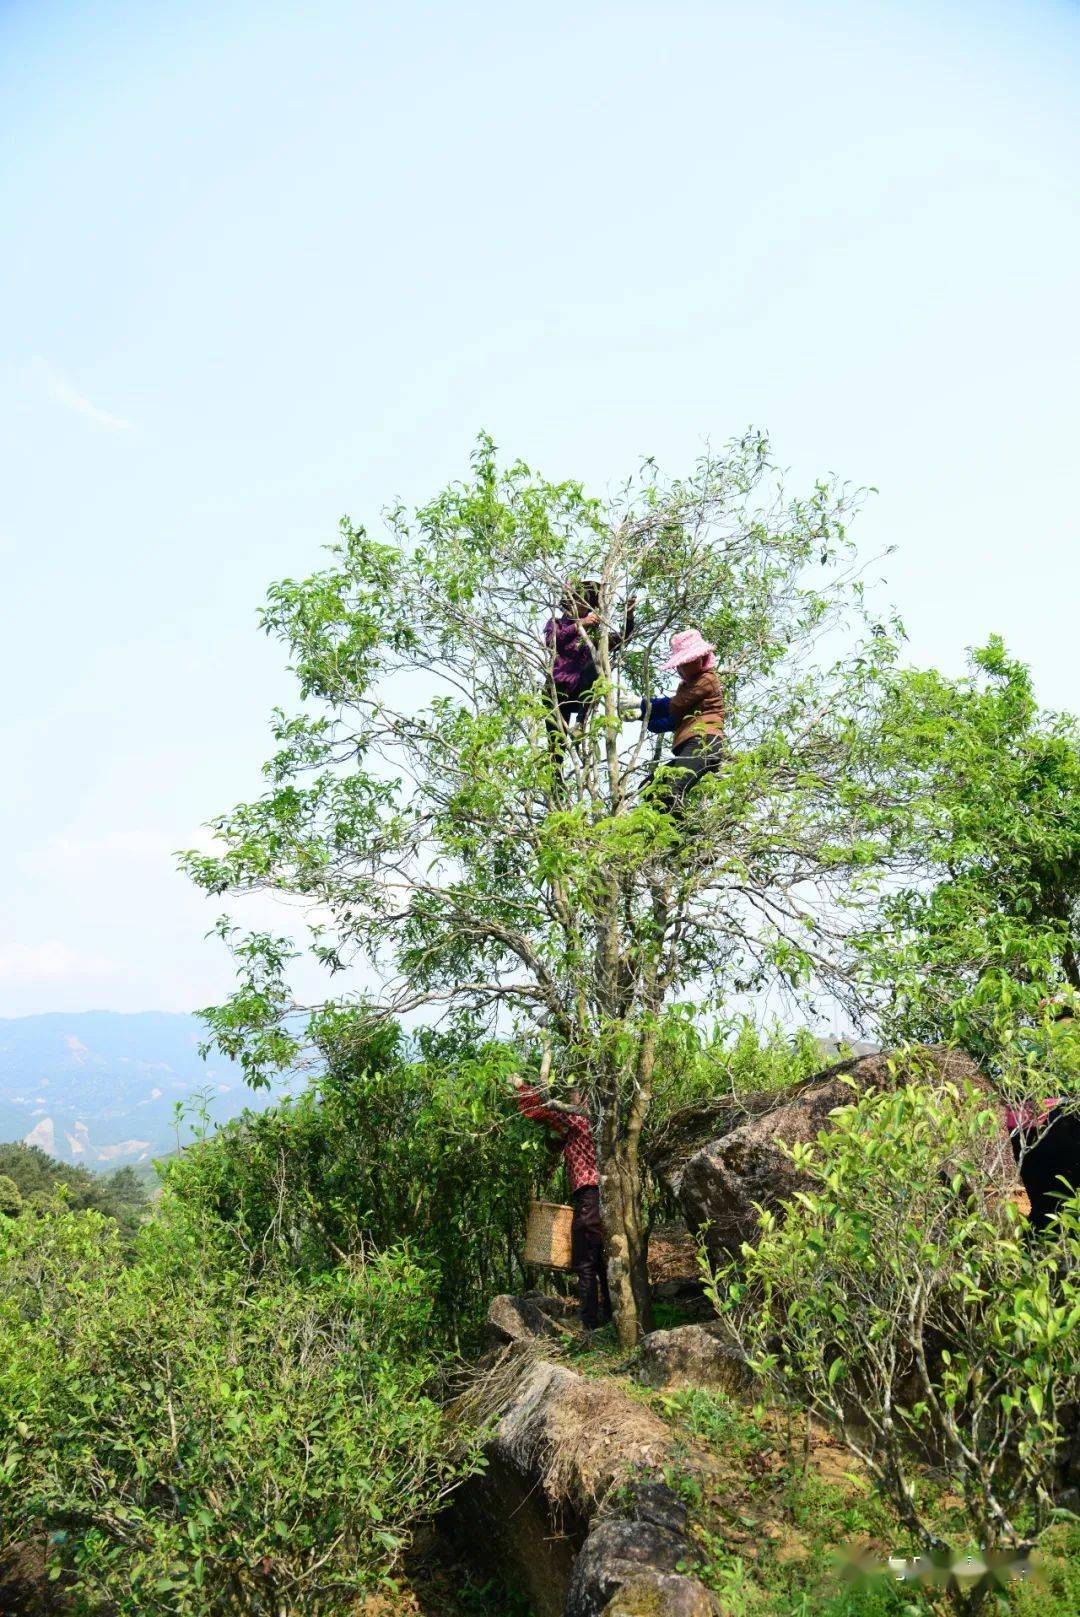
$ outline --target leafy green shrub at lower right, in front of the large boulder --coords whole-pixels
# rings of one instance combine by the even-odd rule
[[[975,1088],[867,1095],[833,1124],[792,1148],[810,1188],[763,1213],[713,1300],[757,1370],[863,1460],[917,1549],[949,1547],[926,1459],[962,1499],[960,1547],[1020,1549],[1051,1520],[1080,1386],[1080,1198],[1028,1239],[988,1182],[1001,1122]]]

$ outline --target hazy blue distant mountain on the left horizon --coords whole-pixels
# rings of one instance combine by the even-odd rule
[[[267,1106],[234,1062],[202,1061],[204,1036],[196,1017],[158,1011],[0,1017],[0,1140],[100,1171],[175,1151],[173,1108],[200,1091],[215,1124]]]

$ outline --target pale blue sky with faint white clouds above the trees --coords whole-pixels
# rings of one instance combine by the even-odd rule
[[[910,655],[1077,707],[1080,6],[0,0],[0,1014],[186,1009],[255,629],[480,427],[598,490],[766,425]]]

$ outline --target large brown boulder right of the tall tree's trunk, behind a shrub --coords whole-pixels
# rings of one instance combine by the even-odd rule
[[[989,1083],[975,1062],[944,1046],[923,1046],[902,1062],[883,1053],[837,1062],[690,1156],[677,1180],[687,1226],[705,1231],[713,1258],[736,1253],[744,1242],[757,1240],[758,1206],[774,1210],[804,1188],[804,1176],[795,1172],[781,1145],[813,1140],[829,1127],[829,1112],[849,1104],[854,1095],[896,1088],[912,1080],[934,1088],[944,1083],[973,1083],[989,1096]],[[994,1161],[986,1163],[988,1176],[1010,1176],[1004,1132],[999,1148],[991,1155]]]

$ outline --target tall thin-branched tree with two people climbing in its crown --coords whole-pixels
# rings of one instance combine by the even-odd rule
[[[863,611],[857,503],[836,483],[789,498],[758,435],[684,480],[647,464],[605,501],[480,440],[464,482],[382,537],[344,522],[325,571],[270,590],[304,708],[275,718],[264,796],[213,821],[221,852],[188,855],[212,893],[309,899],[328,972],[377,973],[301,1030],[288,948],[223,923],[241,980],[210,1022],[251,1082],[432,1006],[555,1045],[595,1109],[624,1342],[648,1321],[640,1138],[664,1004],[828,983],[876,870],[857,783],[894,627]],[[582,577],[595,708],[553,750],[543,624]],[[642,796],[661,744],[621,715],[687,626],[718,647],[728,754],[673,820]]]

